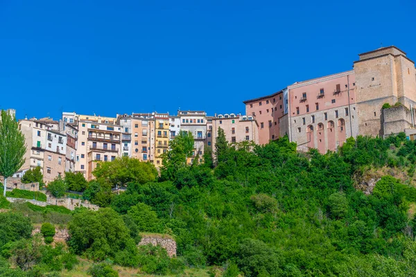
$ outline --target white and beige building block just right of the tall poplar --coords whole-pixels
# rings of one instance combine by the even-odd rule
[[[27,151],[25,163],[15,177],[22,177],[24,172],[40,166],[47,184],[65,172],[67,154],[67,135],[58,132],[58,121],[42,118],[19,121],[19,129],[24,134]]]

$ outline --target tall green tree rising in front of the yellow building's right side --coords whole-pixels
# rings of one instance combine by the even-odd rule
[[[193,152],[191,132],[180,131],[175,139],[169,142],[170,150],[162,155],[161,177],[164,180],[175,179],[176,172],[187,166],[187,160]]]

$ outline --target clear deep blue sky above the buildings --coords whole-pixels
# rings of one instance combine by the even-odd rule
[[[0,0],[0,109],[244,113],[381,44],[416,60],[415,15],[415,0]]]

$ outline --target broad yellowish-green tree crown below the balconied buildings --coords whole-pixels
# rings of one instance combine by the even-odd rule
[[[103,179],[106,183],[117,188],[118,186],[126,186],[131,181],[140,184],[155,181],[157,170],[152,163],[130,157],[121,157],[114,161],[98,163],[92,174],[98,180]]]

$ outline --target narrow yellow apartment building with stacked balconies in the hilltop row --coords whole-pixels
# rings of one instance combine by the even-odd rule
[[[162,166],[162,154],[169,149],[169,114],[155,114],[155,166]]]

